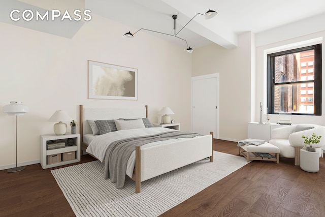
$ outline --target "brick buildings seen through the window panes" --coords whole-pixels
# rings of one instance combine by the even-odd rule
[[[276,85],[274,112],[313,113],[314,50],[275,57],[275,83],[305,81],[299,84]]]

